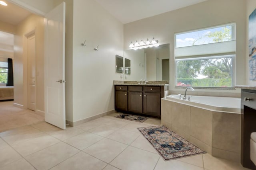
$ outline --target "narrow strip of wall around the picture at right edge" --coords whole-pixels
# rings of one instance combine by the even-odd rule
[[[255,0],[246,0],[247,9],[246,9],[246,84],[250,86],[256,86],[256,81],[249,80],[249,38],[248,38],[248,25],[249,25],[249,16],[256,8]]]

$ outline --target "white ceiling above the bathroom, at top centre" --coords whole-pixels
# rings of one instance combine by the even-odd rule
[[[141,20],[206,0],[95,0],[122,23]]]

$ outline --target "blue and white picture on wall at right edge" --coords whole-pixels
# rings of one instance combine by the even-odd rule
[[[256,9],[249,16],[249,70],[250,80],[256,80]]]

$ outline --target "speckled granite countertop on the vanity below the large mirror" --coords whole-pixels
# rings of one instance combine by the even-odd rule
[[[169,86],[168,81],[148,81],[146,84],[139,84],[138,81],[113,81],[114,85],[132,85],[132,86]]]

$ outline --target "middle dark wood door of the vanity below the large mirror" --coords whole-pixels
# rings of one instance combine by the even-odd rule
[[[128,111],[142,113],[142,92],[128,92]]]

